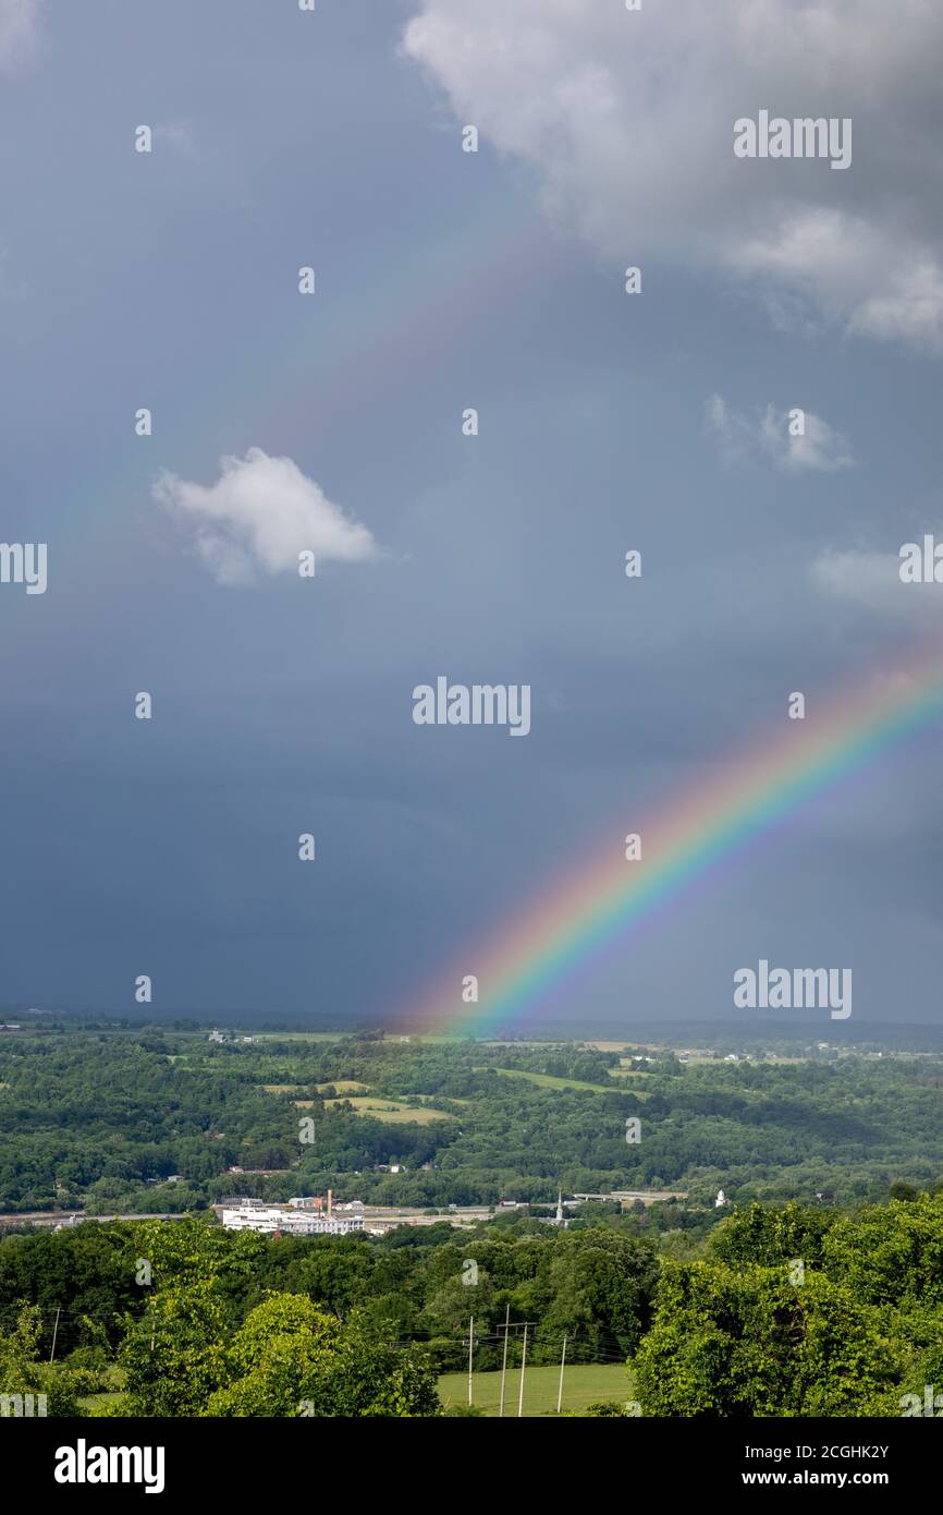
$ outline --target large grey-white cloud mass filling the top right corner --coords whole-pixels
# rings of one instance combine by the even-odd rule
[[[943,351],[943,6],[416,0],[404,52],[616,264],[748,279],[778,324]],[[851,118],[852,164],[737,159],[734,120]]]

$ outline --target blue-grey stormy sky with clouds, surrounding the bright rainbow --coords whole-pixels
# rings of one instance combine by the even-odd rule
[[[148,974],[157,1014],[381,1023],[789,739],[792,689],[940,635],[896,554],[943,529],[941,23],[710,11],[0,0],[3,538],[48,544],[44,595],[0,585],[8,1006],[133,1011]],[[852,167],[736,162],[766,106],[854,117]],[[415,726],[437,674],[530,683],[530,735]],[[545,1023],[728,1018],[760,957],[851,967],[855,1021],[938,1020],[938,742]]]

